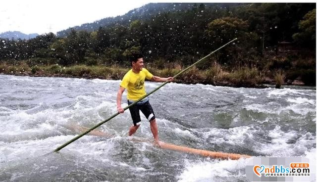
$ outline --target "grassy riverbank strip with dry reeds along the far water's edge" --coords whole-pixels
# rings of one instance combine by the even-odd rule
[[[58,64],[48,66],[32,66],[26,63],[18,65],[0,64],[0,74],[30,76],[30,77],[65,77],[65,78],[84,78],[84,79],[106,79],[120,80],[130,68],[116,66],[87,66],[73,65],[60,66]],[[154,75],[160,77],[170,77],[179,73],[183,68],[174,66],[164,69],[147,67]],[[207,70],[200,70],[196,67],[188,70],[175,79],[175,83],[182,84],[205,84],[226,87],[245,87],[245,88],[267,88],[264,84],[275,85],[276,81],[267,74],[260,72],[257,68],[241,67],[231,72],[226,72],[217,63]],[[284,78],[284,77],[283,77]],[[284,78],[284,80],[287,80]],[[287,85],[305,85],[300,80],[287,80]]]

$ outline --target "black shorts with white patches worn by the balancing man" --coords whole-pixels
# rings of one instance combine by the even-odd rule
[[[128,100],[128,104],[132,104],[133,102]],[[144,103],[137,103],[134,106],[129,108],[133,125],[137,126],[137,123],[141,122],[140,110],[144,114],[144,116],[148,119],[149,122],[155,119],[155,115],[152,109],[152,106],[149,101]]]

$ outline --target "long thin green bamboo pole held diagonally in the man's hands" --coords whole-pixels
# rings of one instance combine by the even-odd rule
[[[233,41],[237,40],[237,38],[231,40],[230,42],[228,42],[227,44],[215,49],[214,51],[212,51],[210,54],[208,54],[207,56],[201,58],[200,60],[198,60],[197,62],[195,62],[194,64],[188,66],[186,69],[182,70],[181,72],[179,72],[177,75],[175,75],[173,78],[176,78],[178,75],[184,73],[185,71],[189,70],[190,68],[192,68],[193,66],[195,66],[196,64],[200,63],[202,60],[204,60],[205,58],[207,58],[208,56],[210,56],[211,54],[213,54],[214,52],[218,51],[219,49],[223,48],[224,46],[227,46],[228,44],[232,43]],[[155,90],[149,92],[148,94],[144,95],[143,97],[139,98],[137,101],[133,102],[132,104],[126,106],[125,108],[123,108],[123,110],[127,110],[128,108],[134,106],[136,103],[138,103],[140,100],[144,99],[145,97],[151,95],[152,93],[154,93],[155,91],[159,90],[161,87],[163,87],[164,85],[166,85],[167,83],[169,83],[169,81],[164,82],[163,84],[161,84],[158,88],[156,88]],[[99,122],[97,125],[95,125],[94,127],[90,128],[89,130],[87,130],[86,132],[72,138],[71,140],[67,141],[66,143],[60,145],[59,147],[57,147],[54,152],[59,151],[60,149],[64,148],[65,146],[69,145],[70,143],[72,143],[73,141],[77,140],[80,137],[83,137],[84,135],[88,134],[89,132],[93,131],[94,129],[98,128],[99,126],[101,126],[102,124],[106,123],[107,121],[111,120],[112,118],[116,117],[118,114],[120,114],[119,112],[113,114],[112,116],[110,116],[108,119]]]

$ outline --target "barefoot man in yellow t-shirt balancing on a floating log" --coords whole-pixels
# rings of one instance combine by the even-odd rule
[[[121,107],[122,93],[127,89],[128,94],[128,104],[132,104],[134,101],[146,95],[144,82],[145,79],[151,80],[154,82],[166,82],[173,81],[172,77],[161,78],[158,76],[152,75],[148,70],[143,68],[143,56],[141,54],[133,54],[130,58],[132,69],[129,70],[123,77],[120,84],[119,90],[117,92],[117,110],[119,113],[123,113],[124,110]],[[149,102],[149,98],[146,97],[139,101],[137,104],[129,108],[133,125],[129,129],[129,136],[133,135],[139,128],[141,122],[140,110],[145,115],[145,117],[150,122],[151,131],[155,139],[156,144],[161,146],[159,141],[159,132],[158,126],[155,119],[155,114],[153,112],[152,106]]]

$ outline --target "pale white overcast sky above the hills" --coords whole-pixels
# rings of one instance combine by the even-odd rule
[[[245,0],[221,0],[220,2]],[[256,2],[259,0],[252,0]],[[265,0],[274,2],[274,0]],[[282,0],[287,2],[285,0]],[[291,0],[290,0],[291,1]],[[288,1],[288,2],[290,2]],[[315,1],[315,0],[305,0]],[[65,30],[106,17],[123,15],[150,2],[219,2],[215,0],[2,0],[0,33],[44,34]],[[250,1],[245,1],[250,2]],[[281,1],[279,1],[281,2]]]

